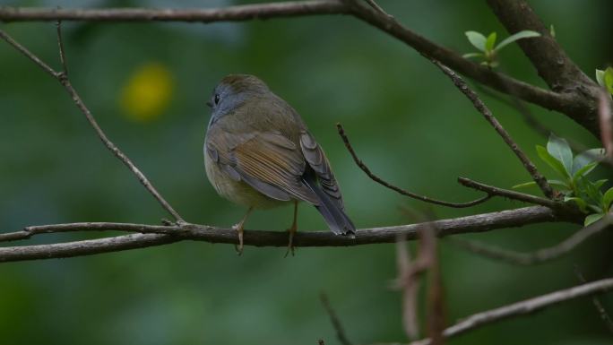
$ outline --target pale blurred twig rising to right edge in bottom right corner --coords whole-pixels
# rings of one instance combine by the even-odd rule
[[[463,332],[468,332],[488,323],[494,323],[506,318],[529,315],[537,312],[548,306],[554,306],[563,302],[573,300],[575,298],[583,298],[596,294],[601,294],[613,289],[613,278],[596,280],[587,284],[575,286],[570,289],[558,290],[548,293],[547,295],[537,298],[530,298],[517,302],[508,306],[501,306],[496,309],[491,309],[482,313],[477,313],[466,317],[459,323],[448,327],[443,332],[445,338],[451,338]],[[410,345],[430,345],[432,342],[429,339],[421,341],[413,341]]]

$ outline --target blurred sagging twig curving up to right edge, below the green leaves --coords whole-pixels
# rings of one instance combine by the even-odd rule
[[[609,215],[601,220],[598,220],[589,226],[576,231],[571,237],[566,238],[556,246],[542,248],[532,253],[518,253],[512,250],[487,246],[479,242],[459,238],[450,237],[448,240],[451,243],[462,246],[463,248],[475,254],[481,254],[488,258],[500,260],[505,263],[531,265],[545,263],[558,257],[568,254],[577,246],[581,245],[586,239],[600,233],[603,229],[607,229],[611,224],[613,216]]]

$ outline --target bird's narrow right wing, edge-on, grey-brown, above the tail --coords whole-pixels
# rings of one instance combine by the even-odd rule
[[[334,178],[334,173],[332,173],[332,168],[330,168],[330,162],[325,157],[322,147],[315,142],[313,135],[306,130],[300,133],[300,149],[308,165],[315,170],[315,175],[324,193],[328,194],[331,200],[337,203],[341,210],[343,210],[341,189],[336,183],[336,178]]]

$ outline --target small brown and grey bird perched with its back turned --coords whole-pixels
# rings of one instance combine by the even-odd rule
[[[286,255],[294,252],[301,201],[314,205],[334,234],[355,234],[324,150],[285,100],[253,75],[229,74],[207,105],[212,115],[204,139],[206,175],[218,194],[247,207],[233,227],[238,254],[245,221],[256,208],[294,204]]]

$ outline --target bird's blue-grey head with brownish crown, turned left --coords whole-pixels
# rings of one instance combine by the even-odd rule
[[[221,116],[240,107],[246,99],[258,97],[270,92],[268,86],[250,74],[229,74],[221,79],[206,103],[212,109],[209,127]]]

